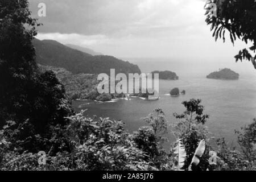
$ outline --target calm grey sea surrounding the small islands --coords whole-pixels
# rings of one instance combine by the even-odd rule
[[[131,98],[131,100],[114,100],[111,102],[75,101],[76,111],[87,111],[86,115],[92,117],[109,117],[122,120],[130,132],[137,131],[146,123],[141,118],[151,113],[155,108],[163,109],[168,123],[176,122],[173,113],[183,113],[181,104],[191,98],[199,98],[205,106],[205,114],[210,118],[205,124],[210,137],[224,137],[229,144],[236,145],[234,130],[250,123],[256,118],[256,71],[249,61],[234,63],[228,59],[135,59],[123,60],[138,64],[143,73],[158,71],[173,71],[179,80],[160,80],[160,99],[156,101]],[[239,80],[212,80],[206,76],[220,68],[230,68],[240,74]],[[172,88],[185,90],[186,94],[179,97],[168,95]],[[175,140],[169,133],[170,142]]]

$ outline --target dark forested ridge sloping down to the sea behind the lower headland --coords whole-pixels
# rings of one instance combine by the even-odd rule
[[[41,65],[65,68],[79,73],[107,73],[114,68],[115,73],[141,73],[137,65],[119,60],[113,56],[92,56],[88,53],[69,48],[55,40],[33,40],[36,61]]]

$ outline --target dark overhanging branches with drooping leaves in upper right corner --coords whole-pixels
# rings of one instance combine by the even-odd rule
[[[205,9],[207,10],[207,24],[210,24],[210,30],[213,31],[215,40],[222,38],[225,42],[225,32],[229,31],[231,42],[241,39],[243,42],[252,43],[253,46],[239,51],[235,56],[238,60],[252,61],[256,69],[256,55],[251,55],[250,51],[256,51],[256,2],[254,0],[214,0],[216,3],[217,16],[213,16],[212,6],[209,6],[212,1],[207,1]]]

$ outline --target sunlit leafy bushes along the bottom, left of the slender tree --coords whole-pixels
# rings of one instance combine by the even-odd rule
[[[108,118],[98,120],[86,118],[82,113],[69,117],[66,126],[51,128],[49,138],[33,136],[38,150],[47,154],[47,164],[39,165],[39,158],[18,147],[13,140],[21,128],[12,130],[14,122],[8,122],[0,131],[0,169],[1,170],[156,170],[171,169],[166,156],[151,156],[138,140],[142,137],[153,138],[155,148],[160,148],[159,137],[154,133],[127,133],[123,122],[110,121]],[[149,131],[151,130],[148,127]],[[24,141],[19,141],[24,142]],[[143,146],[146,144],[142,143]],[[150,144],[152,146],[152,144]],[[159,157],[161,156],[161,157]]]

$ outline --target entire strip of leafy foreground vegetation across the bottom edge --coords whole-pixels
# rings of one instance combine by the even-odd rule
[[[1,170],[188,170],[200,140],[206,149],[200,163],[192,168],[205,170],[255,170],[256,120],[236,131],[240,151],[229,148],[224,139],[217,139],[217,148],[210,146],[205,128],[208,115],[203,114],[200,100],[183,102],[186,110],[174,114],[178,119],[167,125],[161,109],[143,118],[147,126],[128,133],[122,121],[109,118],[86,118],[83,112],[68,117],[67,125],[52,125],[47,135],[27,134],[29,122],[16,124],[9,121],[0,131]],[[192,116],[192,117],[191,117]],[[163,150],[167,132],[174,133],[184,145],[183,168],[178,168],[180,154]],[[216,164],[210,165],[209,151],[217,152]],[[46,152],[46,164],[39,164],[39,151]]]

